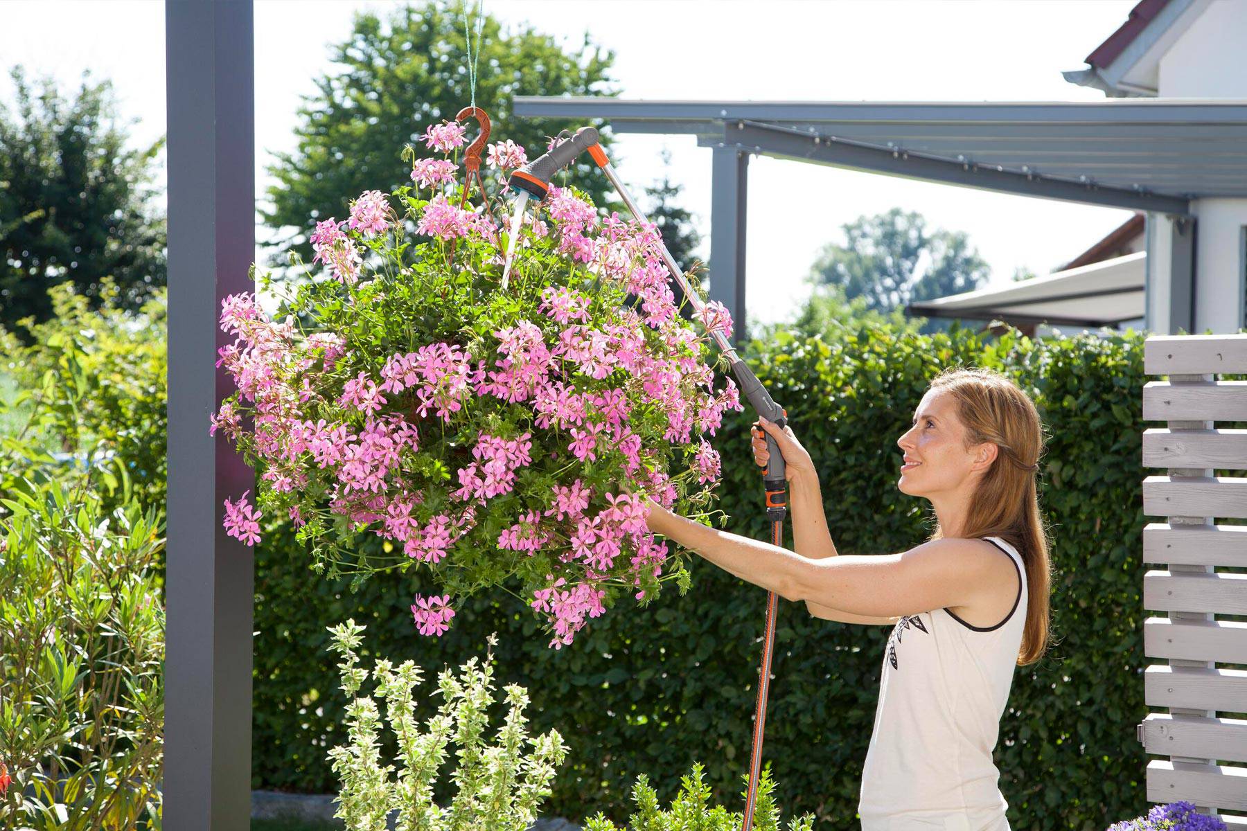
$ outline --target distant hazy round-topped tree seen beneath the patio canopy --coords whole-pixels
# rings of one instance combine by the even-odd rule
[[[928,230],[922,214],[893,208],[842,227],[847,244],[823,248],[811,282],[838,285],[849,300],[864,298],[867,309],[887,313],[970,292],[988,279],[988,264],[964,232]]]

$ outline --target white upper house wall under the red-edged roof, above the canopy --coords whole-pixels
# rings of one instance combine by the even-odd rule
[[[1247,98],[1247,2],[1213,0],[1160,59],[1161,97]]]

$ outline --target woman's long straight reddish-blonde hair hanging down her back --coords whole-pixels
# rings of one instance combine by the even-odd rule
[[[1019,664],[1042,658],[1049,645],[1047,594],[1051,587],[1050,541],[1039,512],[1039,458],[1044,426],[1035,404],[1016,384],[988,369],[950,369],[932,381],[949,392],[965,425],[966,446],[991,442],[996,460],[979,480],[963,529],[965,537],[1000,537],[1018,549],[1026,566],[1026,627]],[[933,539],[943,536],[935,526]]]

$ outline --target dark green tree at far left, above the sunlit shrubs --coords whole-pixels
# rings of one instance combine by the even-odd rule
[[[46,320],[60,283],[99,308],[111,278],[116,303],[140,308],[166,277],[165,218],[151,199],[165,140],[126,148],[108,81],[84,74],[70,101],[51,78],[36,92],[21,66],[10,76],[16,106],[0,103],[0,325]]]

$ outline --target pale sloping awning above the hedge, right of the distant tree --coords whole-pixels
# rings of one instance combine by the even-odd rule
[[[1136,252],[1013,285],[910,303],[905,310],[924,318],[1107,326],[1143,316],[1146,263],[1147,253]]]

